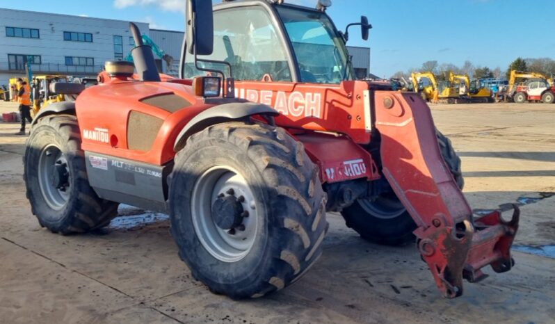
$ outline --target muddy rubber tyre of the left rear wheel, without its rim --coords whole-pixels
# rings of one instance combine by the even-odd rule
[[[40,154],[56,147],[67,159],[69,192],[67,202],[53,209],[40,187]],[[105,227],[118,215],[118,204],[98,197],[88,183],[81,133],[73,115],[51,115],[38,120],[27,140],[24,161],[26,197],[42,227],[63,235],[90,232]]]

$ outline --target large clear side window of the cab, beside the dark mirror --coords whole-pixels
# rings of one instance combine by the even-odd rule
[[[287,52],[282,46],[272,21],[263,8],[232,8],[214,13],[214,53],[200,59],[230,63],[236,80],[262,81],[269,74],[273,81],[291,81]],[[202,68],[223,71],[222,63],[198,63]],[[207,75],[195,68],[195,58],[187,54],[184,78]]]

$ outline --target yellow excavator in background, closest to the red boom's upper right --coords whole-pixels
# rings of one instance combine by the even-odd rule
[[[435,74],[432,72],[415,72],[412,73],[412,85],[415,92],[419,92],[422,99],[433,101],[434,91],[438,92],[438,99],[442,103],[458,104],[460,103],[460,95],[458,88],[453,86],[451,81],[437,81]]]

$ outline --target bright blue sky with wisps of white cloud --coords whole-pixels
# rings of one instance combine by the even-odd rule
[[[285,0],[315,6],[316,0]],[[1,8],[149,22],[184,30],[184,0],[0,0]],[[214,0],[214,3],[220,0]],[[351,31],[348,45],[371,47],[371,73],[389,77],[426,60],[506,70],[515,58],[555,58],[554,0],[332,0],[338,29],[367,15],[368,42]]]

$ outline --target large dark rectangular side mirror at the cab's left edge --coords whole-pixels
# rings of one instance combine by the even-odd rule
[[[186,38],[189,54],[210,55],[214,51],[212,1],[186,1]]]

